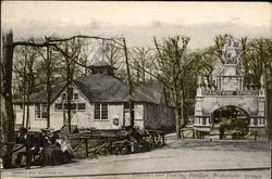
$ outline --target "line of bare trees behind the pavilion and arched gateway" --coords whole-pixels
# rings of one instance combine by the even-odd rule
[[[175,111],[176,133],[181,138],[180,129],[188,122],[187,113],[196,97],[198,81],[208,88],[214,87],[212,72],[218,64],[224,63],[222,56],[226,37],[217,36],[212,46],[191,50],[188,48],[190,38],[186,36],[154,37],[152,47],[127,47],[123,38],[90,36],[33,38],[13,42],[12,33],[8,33],[3,36],[1,61],[1,107],[4,106],[1,118],[8,124],[2,125],[3,141],[13,141],[10,137],[14,131],[12,100],[23,101],[23,125],[27,128],[29,97],[46,90],[47,103],[50,104],[51,90],[59,84],[67,86],[66,120],[71,124],[72,81],[90,75],[88,66],[98,59],[115,67],[115,76],[127,81],[131,88],[158,82],[163,85],[168,102]],[[246,88],[263,87],[271,92],[272,40],[244,37],[240,41]],[[47,106],[50,127],[50,105]]]

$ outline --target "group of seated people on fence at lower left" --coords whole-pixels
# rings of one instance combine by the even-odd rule
[[[41,166],[69,163],[73,156],[73,149],[61,130],[50,132],[41,129],[39,135],[30,135],[26,128],[20,128],[16,143],[22,143],[26,150],[17,153],[16,165],[21,167],[22,157],[26,156],[26,168],[29,169],[34,156],[40,156]]]

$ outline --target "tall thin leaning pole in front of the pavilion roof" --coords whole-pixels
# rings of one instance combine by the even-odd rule
[[[124,42],[126,71],[127,71],[128,85],[129,85],[129,116],[131,116],[131,127],[134,127],[133,82],[132,82],[132,76],[131,76],[131,71],[129,71],[129,63],[128,63],[128,55],[127,55],[127,48],[126,48],[125,38],[123,38],[123,42]]]

